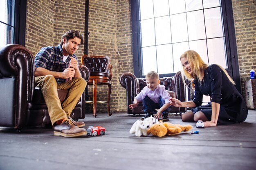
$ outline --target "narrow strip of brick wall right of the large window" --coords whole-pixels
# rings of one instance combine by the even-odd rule
[[[244,95],[244,81],[250,70],[256,70],[256,1],[232,0],[240,77]]]

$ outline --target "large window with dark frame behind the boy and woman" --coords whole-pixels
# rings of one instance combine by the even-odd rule
[[[238,75],[240,86],[230,7],[231,0],[131,0],[135,76],[151,70],[173,76],[182,68],[180,55],[191,49]]]

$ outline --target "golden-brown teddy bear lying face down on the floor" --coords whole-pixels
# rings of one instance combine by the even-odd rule
[[[154,136],[163,137],[165,135],[175,135],[181,133],[182,131],[186,132],[192,129],[190,124],[188,125],[180,125],[180,124],[172,124],[170,122],[153,124],[148,129],[148,134],[152,134]]]

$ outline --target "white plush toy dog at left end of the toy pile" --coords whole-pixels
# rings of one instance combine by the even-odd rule
[[[150,127],[150,123],[144,120],[137,120],[131,127],[130,133],[135,133],[137,137],[141,135],[147,136],[148,135],[148,128]]]

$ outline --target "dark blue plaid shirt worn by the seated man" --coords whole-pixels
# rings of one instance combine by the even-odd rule
[[[68,68],[68,64],[70,63],[71,58],[74,57],[77,60],[75,54],[69,55],[65,62],[63,62],[63,53],[61,45],[59,46],[49,46],[43,47],[36,54],[34,63],[36,68],[45,68],[54,72],[63,72],[66,68]],[[56,78],[57,83],[65,82],[63,78]]]

